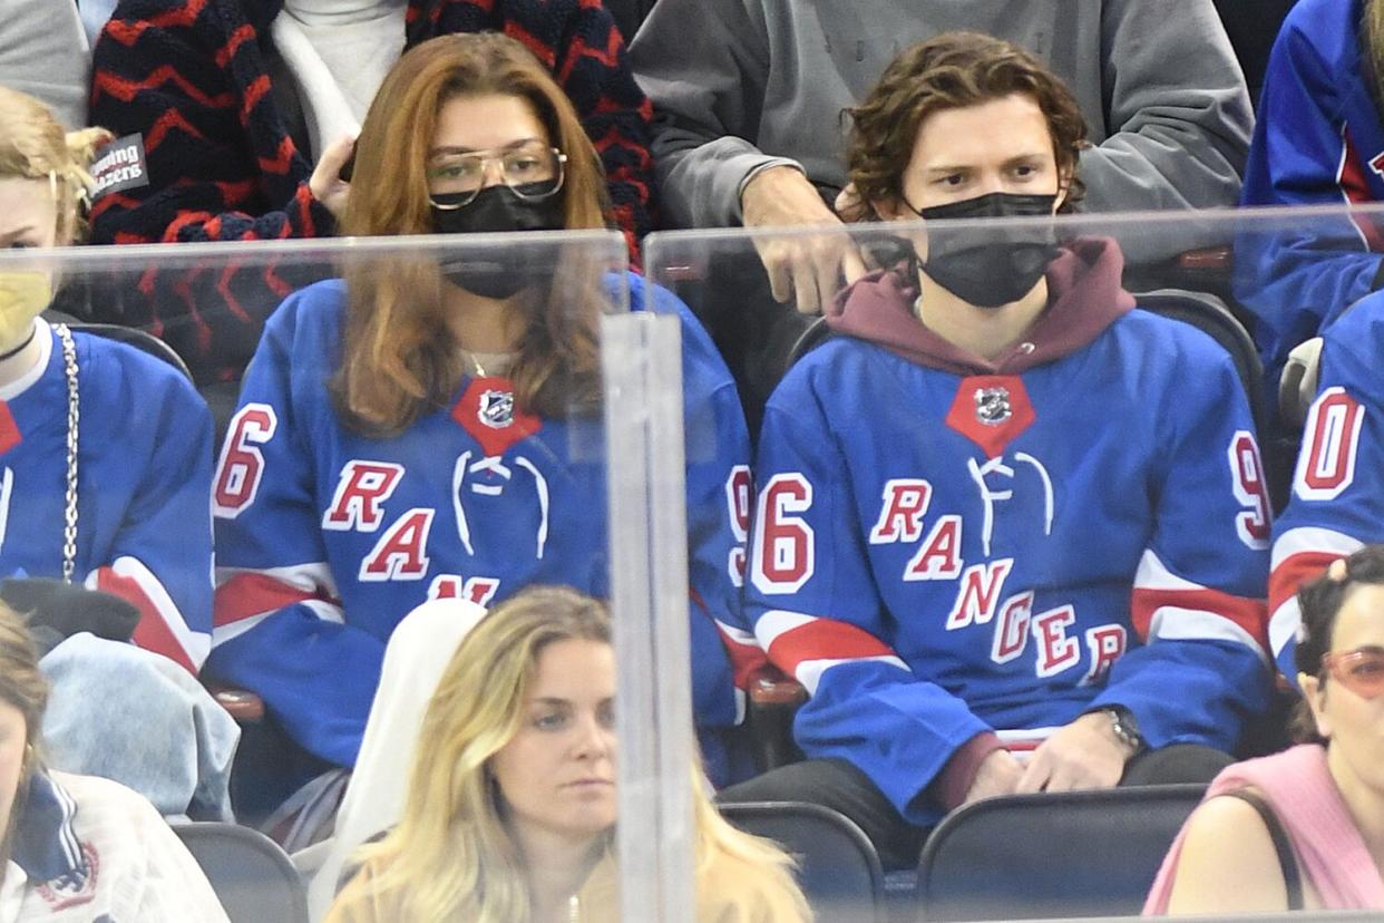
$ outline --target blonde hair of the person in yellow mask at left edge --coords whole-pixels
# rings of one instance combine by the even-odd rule
[[[47,180],[57,205],[60,246],[86,234],[84,213],[94,187],[87,167],[115,137],[105,129],[64,131],[32,95],[0,87],[0,179]]]

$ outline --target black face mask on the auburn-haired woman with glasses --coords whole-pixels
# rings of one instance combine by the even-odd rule
[[[552,183],[530,183],[522,190],[538,195]],[[448,205],[465,194],[436,195],[435,202]],[[565,224],[562,197],[525,199],[508,185],[487,185],[459,209],[433,205],[436,234],[502,234],[505,231],[561,231]],[[441,273],[453,285],[482,298],[507,299],[540,281],[534,273],[533,253],[526,248],[487,248],[465,260],[444,260]]]

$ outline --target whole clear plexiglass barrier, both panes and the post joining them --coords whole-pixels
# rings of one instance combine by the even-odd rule
[[[1250,757],[1308,906],[1369,894],[1384,627],[1294,591],[1384,538],[1381,227],[0,253],[0,901],[1132,916],[1271,848],[1154,881]]]

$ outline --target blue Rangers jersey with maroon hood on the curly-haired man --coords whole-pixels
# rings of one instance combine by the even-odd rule
[[[1228,750],[1266,702],[1243,389],[1210,338],[1128,310],[1113,249],[1082,245],[1116,264],[1099,285],[1055,263],[1032,339],[992,364],[926,331],[898,275],[868,277],[837,325],[873,298],[854,329],[877,342],[828,340],[768,403],[746,614],[811,693],[804,751],[913,823],[980,733],[1024,749],[1122,706],[1151,747]]]

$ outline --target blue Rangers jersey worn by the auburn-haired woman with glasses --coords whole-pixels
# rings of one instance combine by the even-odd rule
[[[642,304],[642,281],[628,278]],[[340,281],[292,295],[245,374],[215,488],[208,670],[263,696],[304,749],[349,767],[385,643],[411,609],[439,595],[490,605],[534,583],[606,595],[609,562],[599,411],[540,419],[515,408],[508,381],[465,378],[450,407],[403,435],[356,435],[325,387],[345,303]],[[717,623],[740,621],[749,437],[710,338],[677,310],[696,447],[686,469],[693,699],[698,724],[716,728],[738,713]]]

